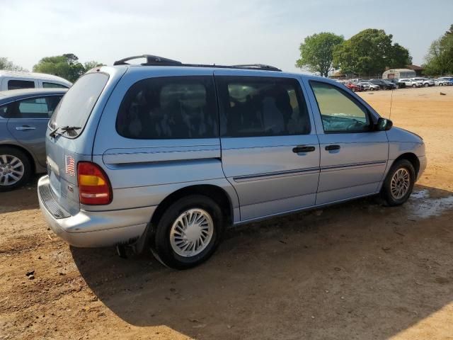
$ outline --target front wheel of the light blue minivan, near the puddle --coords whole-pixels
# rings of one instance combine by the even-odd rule
[[[403,175],[403,179],[406,179],[407,176],[408,180],[407,188],[405,188],[403,192],[400,192],[401,196],[398,195],[398,188],[403,188],[403,186],[398,186],[397,173]],[[413,168],[412,163],[407,159],[400,159],[395,162],[391,166],[389,174],[387,174],[384,184],[382,185],[381,196],[386,202],[386,205],[394,207],[405,203],[409,196],[411,196],[414,183],[415,169]],[[392,188],[394,188],[394,191],[392,191]]]

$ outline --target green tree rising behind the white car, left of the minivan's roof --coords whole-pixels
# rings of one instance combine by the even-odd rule
[[[54,57],[44,57],[38,64],[33,66],[33,71],[54,74],[55,76],[62,77],[71,82],[76,81],[82,74],[88,69],[92,68],[92,65],[101,65],[99,62],[91,61],[86,62],[85,65],[79,62],[79,58],[72,54],[67,53],[64,55],[57,55]]]

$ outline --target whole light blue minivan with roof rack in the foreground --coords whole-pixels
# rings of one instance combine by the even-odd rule
[[[190,268],[226,226],[378,194],[401,205],[425,169],[421,137],[336,81],[144,57],[85,74],[50,120],[40,208],[74,246],[149,246]]]

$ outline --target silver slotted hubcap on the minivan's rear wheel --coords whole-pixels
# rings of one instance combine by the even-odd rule
[[[195,256],[206,249],[213,232],[214,222],[210,214],[202,209],[187,210],[171,226],[171,248],[179,256]]]

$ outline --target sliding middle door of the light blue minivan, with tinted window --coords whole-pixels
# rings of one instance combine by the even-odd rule
[[[314,205],[319,142],[299,79],[239,74],[214,71],[222,166],[241,221]]]

